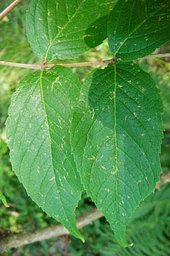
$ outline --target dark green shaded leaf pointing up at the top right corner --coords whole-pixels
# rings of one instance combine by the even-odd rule
[[[122,61],[146,56],[170,40],[170,1],[119,0],[108,21],[109,47]]]

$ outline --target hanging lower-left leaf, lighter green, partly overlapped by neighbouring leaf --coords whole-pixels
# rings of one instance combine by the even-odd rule
[[[28,195],[83,240],[74,214],[82,185],[69,134],[79,90],[78,79],[64,67],[25,77],[12,96],[6,131],[12,169]]]

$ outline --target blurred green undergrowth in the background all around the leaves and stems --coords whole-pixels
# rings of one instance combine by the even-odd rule
[[[0,11],[10,0],[0,0]],[[25,35],[25,10],[29,1],[23,1],[10,14],[0,21],[0,60],[41,63],[32,53]],[[170,44],[157,52],[170,52]],[[111,59],[107,41],[76,60],[97,61]],[[170,171],[170,58],[140,60],[142,68],[149,72],[162,92],[164,102],[164,140],[161,163],[163,171]],[[81,82],[94,67],[74,68]],[[0,190],[6,196],[9,208],[0,202],[0,239],[10,233],[35,230],[56,224],[27,196],[11,170],[9,151],[5,135],[5,121],[11,94],[29,69],[0,66]],[[102,255],[102,256],[167,256],[170,255],[170,185],[161,187],[149,196],[135,212],[127,229],[128,242],[134,246],[124,249],[114,240],[114,234],[105,218],[83,228],[85,243],[73,236],[63,236],[52,240],[33,243],[18,249],[11,249],[4,255]],[[82,214],[94,207],[92,201],[83,193],[76,214]]]

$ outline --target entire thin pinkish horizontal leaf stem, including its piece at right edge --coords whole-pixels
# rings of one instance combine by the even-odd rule
[[[170,57],[170,53],[163,53],[163,54],[151,54],[139,59],[151,59],[151,58],[163,58],[163,57]],[[97,66],[97,65],[108,65],[110,63],[114,63],[114,59],[111,60],[103,60],[103,61],[94,61],[94,62],[80,62],[80,63],[56,63],[56,64],[24,64],[24,63],[13,63],[8,61],[0,61],[0,65],[3,66],[10,66],[10,67],[18,67],[18,68],[30,68],[30,69],[44,69],[46,67],[52,68],[56,65],[67,67],[67,68],[74,68],[74,67],[88,67],[88,66]]]

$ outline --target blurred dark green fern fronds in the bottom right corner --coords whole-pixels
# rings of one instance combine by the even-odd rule
[[[143,201],[138,212],[146,212],[146,216],[138,216],[127,227],[127,240],[134,245],[124,248],[117,244],[108,225],[100,227],[95,243],[90,245],[96,254],[104,256],[167,256],[169,255],[170,235],[170,201],[169,184],[161,187],[147,200]],[[164,196],[166,195],[166,198]],[[151,209],[152,206],[152,209]],[[99,246],[100,244],[100,246]],[[106,253],[105,253],[106,252]]]

